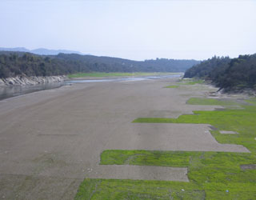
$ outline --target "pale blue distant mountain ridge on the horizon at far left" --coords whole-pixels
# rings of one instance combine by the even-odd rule
[[[58,54],[82,54],[79,51],[75,50],[48,50],[45,48],[38,48],[35,50],[28,50],[24,47],[15,47],[15,48],[5,48],[0,47],[0,50],[2,51],[21,51],[21,52],[28,52],[32,54],[38,54],[38,55],[58,55]]]

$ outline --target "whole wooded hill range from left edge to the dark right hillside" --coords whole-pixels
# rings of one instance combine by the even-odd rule
[[[144,62],[80,54],[37,54],[0,51],[0,78],[50,76],[79,72],[183,72],[195,60],[156,59]]]

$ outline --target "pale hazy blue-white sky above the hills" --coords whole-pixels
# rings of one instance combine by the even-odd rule
[[[0,46],[143,60],[256,53],[256,1],[1,0]]]

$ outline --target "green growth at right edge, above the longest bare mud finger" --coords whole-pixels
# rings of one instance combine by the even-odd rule
[[[254,98],[247,100],[247,104],[208,98],[190,98],[188,103],[191,102],[226,106],[226,109],[194,111],[194,114],[183,114],[178,118],[137,118],[134,122],[210,124],[217,128],[212,130],[211,134],[218,142],[246,146],[251,152],[256,153],[256,101]],[[234,109],[234,107],[230,109],[230,106],[240,106],[242,109]],[[238,134],[220,134],[218,130],[231,130]]]

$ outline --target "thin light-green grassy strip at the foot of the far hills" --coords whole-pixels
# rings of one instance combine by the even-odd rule
[[[106,72],[92,72],[92,73],[78,73],[69,74],[68,78],[82,78],[82,77],[125,77],[125,76],[152,76],[152,75],[166,75],[166,74],[178,74],[178,73],[106,73]]]

